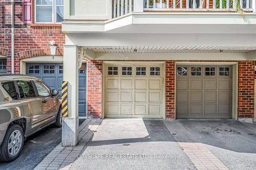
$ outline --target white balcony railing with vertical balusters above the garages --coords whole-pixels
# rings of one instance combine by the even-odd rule
[[[113,0],[113,18],[131,12],[148,11],[236,12],[239,6],[245,12],[256,12],[255,1],[256,0]]]

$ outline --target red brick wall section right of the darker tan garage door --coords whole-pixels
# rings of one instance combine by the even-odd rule
[[[254,64],[240,61],[238,64],[238,117],[254,116]]]

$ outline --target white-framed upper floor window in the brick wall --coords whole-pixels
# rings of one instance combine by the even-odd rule
[[[35,22],[58,23],[64,20],[64,0],[36,0]]]

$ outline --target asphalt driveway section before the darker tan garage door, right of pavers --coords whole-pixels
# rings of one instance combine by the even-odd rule
[[[235,120],[179,120],[229,169],[256,169],[256,124]]]

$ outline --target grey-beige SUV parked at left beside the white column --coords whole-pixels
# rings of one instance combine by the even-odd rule
[[[0,161],[18,157],[24,140],[50,124],[62,126],[58,91],[40,79],[0,75]]]

